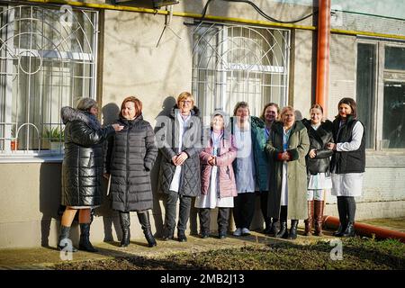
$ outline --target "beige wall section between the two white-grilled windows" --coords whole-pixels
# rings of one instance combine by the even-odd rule
[[[143,103],[144,118],[154,124],[167,97],[191,90],[191,28],[175,17],[157,46],[164,17],[105,11],[103,105],[121,104],[127,95]]]

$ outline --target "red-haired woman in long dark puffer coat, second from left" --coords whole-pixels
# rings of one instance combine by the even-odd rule
[[[148,211],[153,206],[150,170],[157,157],[155,133],[142,117],[142,103],[130,96],[121,103],[118,124],[124,127],[108,141],[106,177],[111,175],[112,209],[120,211],[121,247],[130,244],[130,211],[137,211],[148,246],[157,245]]]

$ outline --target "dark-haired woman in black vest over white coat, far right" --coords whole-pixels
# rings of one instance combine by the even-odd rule
[[[365,128],[357,120],[356,101],[342,98],[338,103],[338,115],[333,121],[334,143],[330,164],[332,195],[338,197],[340,225],[333,234],[338,237],[355,236],[355,197],[362,195],[365,173]]]

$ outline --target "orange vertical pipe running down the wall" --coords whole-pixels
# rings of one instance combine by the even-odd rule
[[[329,94],[330,0],[319,0],[316,103],[327,112]]]

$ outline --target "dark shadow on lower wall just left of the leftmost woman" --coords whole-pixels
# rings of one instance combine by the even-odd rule
[[[49,247],[49,231],[52,219],[58,220],[60,227],[61,163],[43,163],[40,166],[40,245]],[[58,236],[57,236],[58,237]],[[72,229],[72,239],[78,238],[78,229]],[[57,242],[57,238],[55,241]]]

